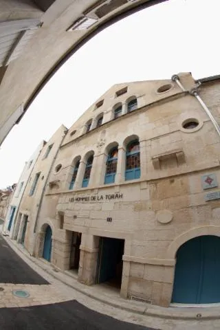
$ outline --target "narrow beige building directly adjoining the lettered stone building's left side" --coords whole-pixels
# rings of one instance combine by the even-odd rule
[[[36,221],[41,208],[47,177],[66,131],[67,128],[61,125],[50,140],[41,148],[41,153],[32,168],[30,179],[25,187],[17,211],[17,219],[12,230],[12,239],[16,239],[23,244],[30,254],[33,254],[34,250]]]

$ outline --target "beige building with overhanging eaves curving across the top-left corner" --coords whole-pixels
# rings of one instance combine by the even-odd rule
[[[50,7],[43,11],[37,5],[39,1],[15,0],[5,5],[0,0],[0,39],[5,38],[5,32],[16,30],[17,22],[24,23],[19,40],[12,40],[13,53],[9,50],[0,65],[0,145],[39,91],[83,44],[116,21],[164,1],[168,0],[56,0],[49,1]],[[13,21],[8,17],[13,17]],[[39,23],[27,25],[33,20]],[[27,43],[22,49],[24,39]]]

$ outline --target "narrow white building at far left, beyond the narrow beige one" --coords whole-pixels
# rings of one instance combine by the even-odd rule
[[[14,219],[17,217],[17,211],[19,205],[21,203],[21,199],[23,196],[23,192],[25,190],[26,185],[28,184],[28,179],[32,173],[32,169],[34,168],[34,164],[36,163],[36,159],[38,159],[39,154],[46,142],[43,141],[34,151],[33,155],[30,157],[28,162],[25,162],[25,167],[21,173],[21,177],[19,178],[19,182],[17,183],[17,187],[14,190],[14,195],[10,201],[10,206],[8,207],[7,217],[5,217],[5,224],[3,227],[3,231],[5,234],[9,234],[12,237],[12,232],[14,228]]]

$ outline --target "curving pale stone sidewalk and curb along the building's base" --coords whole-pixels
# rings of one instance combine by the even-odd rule
[[[179,309],[181,308],[181,311],[178,309],[175,309],[175,307],[173,307],[173,309],[171,310],[172,307],[157,307],[155,305],[147,305],[147,304],[143,304],[142,306],[133,306],[133,307],[126,307],[126,306],[122,306],[118,303],[115,303],[113,300],[110,300],[107,298],[102,298],[102,296],[100,295],[96,295],[96,294],[91,294],[89,292],[86,291],[85,289],[80,289],[77,285],[71,285],[69,283],[67,283],[66,281],[63,281],[62,278],[60,278],[58,276],[58,274],[65,274],[64,272],[60,271],[59,273],[56,274],[56,272],[54,272],[54,270],[56,269],[56,267],[54,267],[54,270],[52,269],[52,265],[48,265],[48,267],[50,267],[50,269],[47,269],[47,267],[43,267],[42,265],[42,261],[39,259],[34,258],[33,256],[30,256],[30,254],[28,254],[28,252],[26,252],[26,250],[24,251],[23,249],[21,249],[17,243],[15,243],[14,241],[12,241],[11,239],[8,238],[8,236],[3,236],[3,239],[8,243],[8,245],[10,245],[10,247],[12,248],[12,250],[14,250],[14,252],[17,253],[17,251],[21,252],[23,254],[23,256],[25,256],[26,258],[28,258],[32,263],[34,263],[34,265],[37,265],[38,267],[40,267],[42,270],[44,270],[45,272],[47,272],[47,274],[50,274],[50,276],[56,278],[56,280],[60,281],[61,283],[67,285],[68,287],[71,287],[72,289],[76,290],[77,292],[80,292],[81,294],[84,294],[85,296],[88,296],[89,298],[93,298],[95,300],[98,300],[100,303],[104,303],[107,305],[110,305],[112,307],[115,307],[117,309],[122,309],[124,311],[130,311],[132,313],[135,314],[141,314],[141,315],[145,315],[145,316],[151,316],[151,317],[155,317],[155,318],[164,318],[166,320],[168,319],[176,319],[176,320],[219,320],[220,319],[220,308],[219,307],[210,307],[212,310],[210,310],[210,308],[201,308],[201,307],[195,307],[195,308],[189,308],[189,310],[186,311],[186,308],[181,308],[179,307]],[[34,260],[33,260],[34,259]],[[47,266],[45,264],[45,266]],[[68,276],[69,278],[72,278],[72,276],[69,276],[68,274],[65,274],[65,276]],[[124,300],[124,302],[126,301],[132,301],[132,300]]]

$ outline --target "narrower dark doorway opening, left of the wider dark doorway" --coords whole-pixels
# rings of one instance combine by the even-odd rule
[[[71,251],[69,257],[69,269],[78,270],[80,264],[80,244],[82,234],[81,232],[72,233]]]

